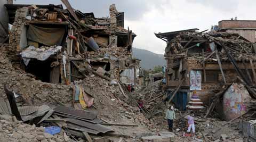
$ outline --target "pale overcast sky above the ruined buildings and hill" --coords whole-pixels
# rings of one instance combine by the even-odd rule
[[[137,37],[133,46],[163,54],[166,43],[154,32],[190,28],[210,29],[220,20],[256,20],[255,0],[69,0],[74,9],[94,12],[96,17],[109,15],[109,5],[125,12],[125,28]],[[60,0],[17,0],[14,4],[62,4]]]

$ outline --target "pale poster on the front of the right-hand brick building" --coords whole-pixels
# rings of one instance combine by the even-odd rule
[[[202,73],[201,71],[190,71],[190,90],[202,89]]]

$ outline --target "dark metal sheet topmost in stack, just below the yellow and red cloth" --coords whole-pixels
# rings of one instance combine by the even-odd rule
[[[75,116],[77,118],[93,120],[96,118],[96,114],[89,111],[74,110],[71,107],[58,106],[54,108],[55,112]]]

